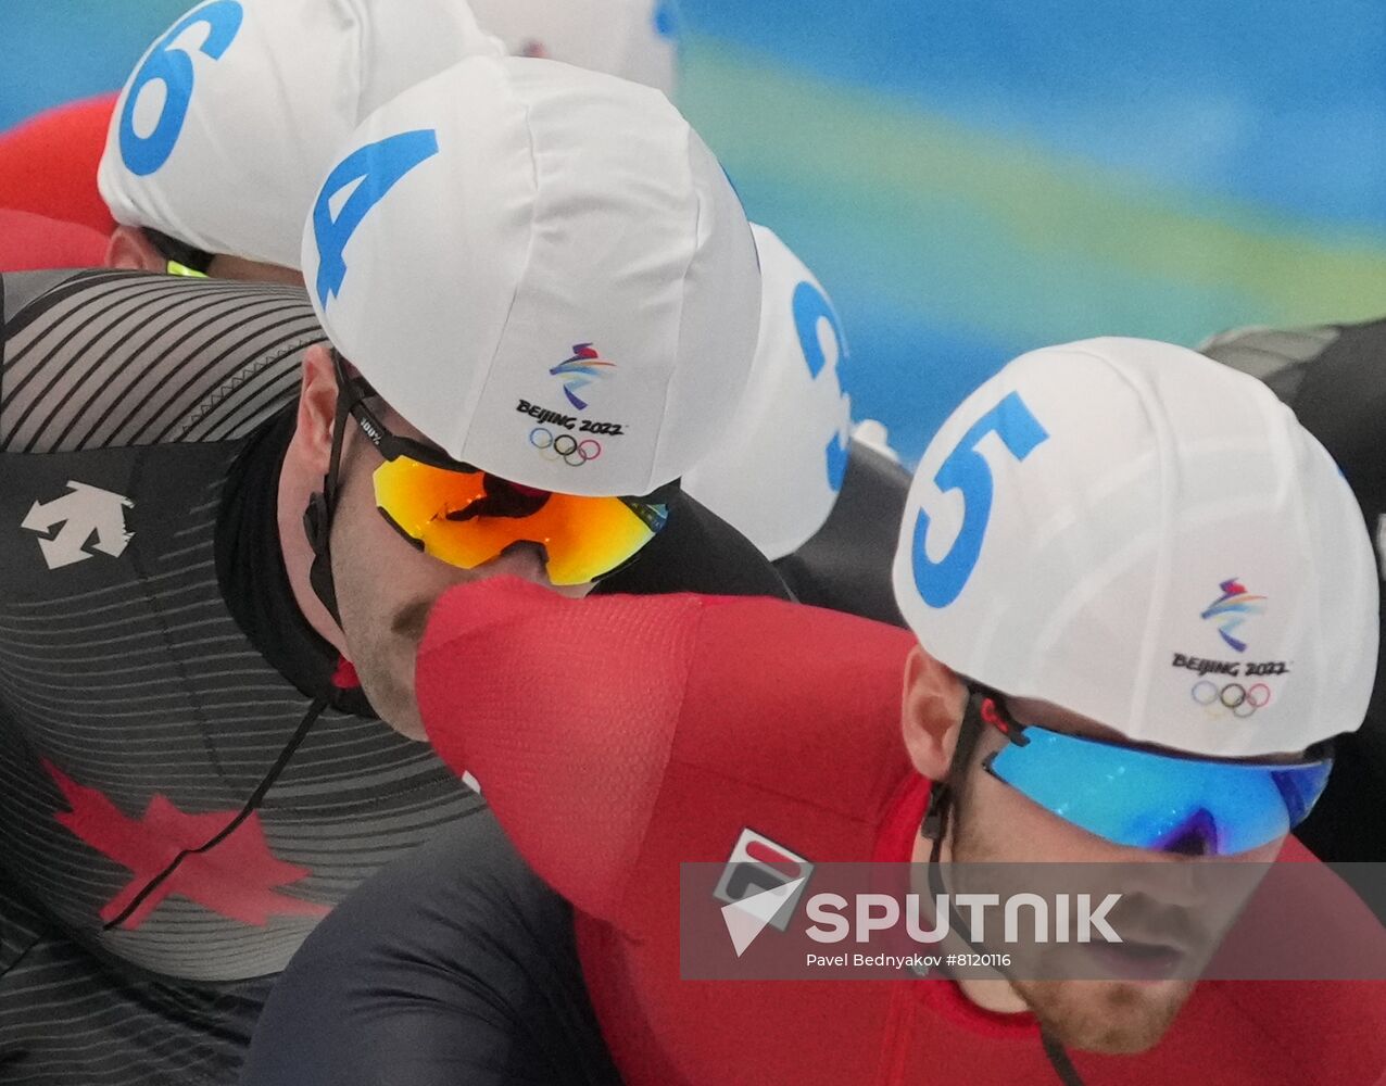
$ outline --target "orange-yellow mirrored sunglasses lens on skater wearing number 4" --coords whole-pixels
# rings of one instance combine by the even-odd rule
[[[514,543],[538,543],[554,585],[582,585],[611,572],[661,526],[615,497],[536,493],[480,471],[449,471],[409,457],[387,460],[374,485],[380,511],[427,554],[474,569]]]

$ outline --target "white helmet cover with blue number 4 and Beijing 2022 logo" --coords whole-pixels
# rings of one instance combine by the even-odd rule
[[[463,61],[348,141],[304,230],[323,327],[452,457],[643,495],[726,428],[760,272],[712,152],[649,87]]]

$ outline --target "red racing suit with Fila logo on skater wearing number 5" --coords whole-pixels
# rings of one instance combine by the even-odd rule
[[[430,737],[572,903],[626,1082],[1056,1080],[1031,1015],[952,981],[679,978],[679,863],[726,862],[744,828],[812,862],[911,859],[930,790],[900,736],[913,646],[771,600],[575,603],[492,579],[439,601],[417,669]],[[1282,859],[1313,862],[1293,841]],[[1386,983],[1204,981],[1152,1050],[1070,1056],[1088,1086],[1374,1086],[1382,1022]]]

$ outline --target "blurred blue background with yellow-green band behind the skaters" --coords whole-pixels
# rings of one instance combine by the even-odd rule
[[[4,0],[0,129],[118,87],[190,6]],[[906,460],[1034,346],[1386,312],[1376,0],[681,11],[681,105],[833,295],[857,414]]]

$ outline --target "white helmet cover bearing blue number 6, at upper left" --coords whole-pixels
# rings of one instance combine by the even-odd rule
[[[298,267],[304,215],[360,121],[450,64],[500,55],[464,0],[211,0],[148,48],[111,119],[111,215]]]

